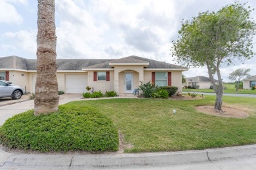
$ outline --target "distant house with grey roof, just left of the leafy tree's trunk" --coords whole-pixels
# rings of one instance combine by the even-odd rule
[[[215,80],[216,84],[219,84],[218,80]],[[209,89],[212,85],[210,78],[206,76],[195,76],[186,78],[186,82],[183,84],[184,86],[199,86],[199,89]]]

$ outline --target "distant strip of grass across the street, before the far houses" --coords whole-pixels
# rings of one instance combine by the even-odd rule
[[[224,84],[224,86],[226,86],[224,93],[256,94],[256,90],[238,90],[238,92],[236,92],[236,88],[234,87],[234,84]],[[185,89],[185,88],[182,88],[182,92],[215,93],[213,89]]]

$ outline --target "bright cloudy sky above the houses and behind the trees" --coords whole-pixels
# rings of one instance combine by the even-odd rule
[[[246,1],[240,1],[246,2]],[[221,9],[230,0],[55,0],[57,58],[124,58],[140,56],[175,63],[171,41],[182,19]],[[256,1],[248,0],[256,8]],[[256,11],[251,12],[256,18]],[[37,1],[0,0],[0,57],[36,59]],[[256,38],[254,39],[254,43]],[[253,47],[256,52],[256,44]],[[179,65],[179,64],[177,64]],[[221,65],[224,82],[240,68],[256,75],[256,56],[244,64]],[[208,76],[207,68],[189,68],[185,77]]]

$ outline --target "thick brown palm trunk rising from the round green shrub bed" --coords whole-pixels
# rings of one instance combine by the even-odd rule
[[[37,80],[34,115],[58,110],[54,0],[38,0]]]

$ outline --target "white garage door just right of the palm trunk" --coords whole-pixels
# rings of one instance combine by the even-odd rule
[[[87,75],[65,75],[66,93],[83,93],[87,86]]]

